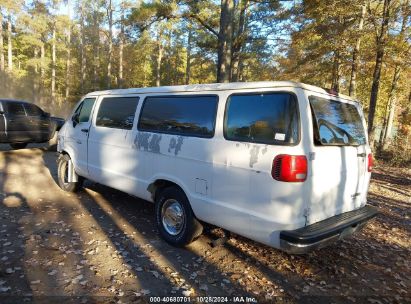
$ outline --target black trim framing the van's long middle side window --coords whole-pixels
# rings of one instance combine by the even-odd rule
[[[181,98],[181,97],[216,97],[216,103],[215,103],[215,109],[214,109],[214,123],[213,123],[213,130],[212,130],[212,134],[210,136],[205,136],[205,135],[195,135],[195,134],[185,134],[185,133],[181,133],[181,132],[167,132],[167,131],[158,131],[158,130],[142,130],[140,127],[140,123],[141,123],[141,116],[143,114],[144,111],[144,107],[146,105],[146,101],[148,98]],[[217,125],[217,112],[218,112],[218,105],[220,102],[220,96],[218,94],[187,94],[187,95],[147,95],[144,97],[142,105],[141,105],[141,109],[140,109],[140,113],[138,116],[138,121],[137,121],[137,130],[139,132],[150,132],[150,133],[158,133],[158,134],[169,134],[169,135],[178,135],[178,136],[185,136],[185,137],[197,137],[197,138],[214,138],[215,136],[215,129],[216,129],[216,125]]]

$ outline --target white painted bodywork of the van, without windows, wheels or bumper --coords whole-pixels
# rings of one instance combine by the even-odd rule
[[[77,126],[73,127],[68,121],[59,137],[58,149],[71,151],[69,153],[79,175],[149,201],[153,201],[151,184],[157,180],[175,183],[186,194],[198,219],[281,248],[281,231],[300,229],[365,205],[370,173],[367,172],[367,157],[363,155],[368,155],[370,148],[367,143],[321,146],[313,140],[315,121],[309,96],[355,105],[365,128],[364,116],[356,102],[303,84],[273,84],[276,83],[93,93],[92,96],[99,97],[87,137],[78,134]],[[225,138],[225,115],[230,96],[284,92],[297,100],[298,141],[267,144]],[[218,96],[211,138],[138,128],[147,97],[182,95]],[[125,130],[96,125],[98,109],[107,96],[139,98],[132,128]],[[88,142],[88,151],[84,146],[79,148],[79,136]],[[304,182],[282,182],[273,178],[273,160],[280,154],[307,158]]]

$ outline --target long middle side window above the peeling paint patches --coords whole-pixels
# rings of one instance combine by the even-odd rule
[[[213,137],[217,96],[147,97],[138,129],[141,131]]]

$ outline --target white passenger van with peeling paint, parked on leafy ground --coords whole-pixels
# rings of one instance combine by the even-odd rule
[[[93,92],[58,151],[62,189],[87,178],[154,202],[175,246],[205,222],[305,253],[377,213],[366,205],[372,155],[360,105],[302,83]]]

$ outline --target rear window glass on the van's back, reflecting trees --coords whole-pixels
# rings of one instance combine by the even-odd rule
[[[310,96],[309,100],[316,144],[359,146],[366,143],[364,126],[355,105],[317,96]]]

